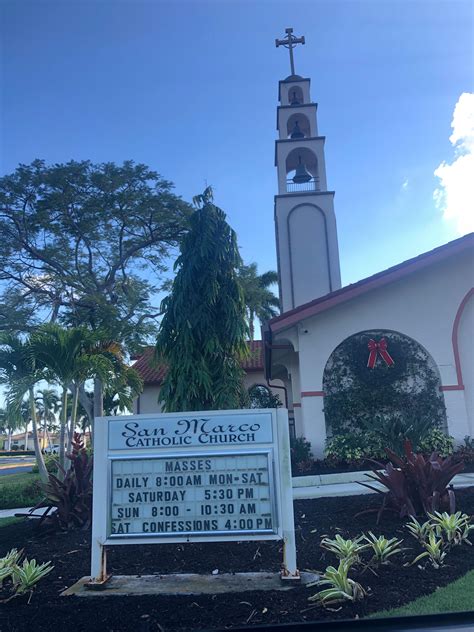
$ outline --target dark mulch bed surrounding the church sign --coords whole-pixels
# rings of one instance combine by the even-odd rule
[[[457,509],[474,514],[474,487],[456,493]],[[379,525],[376,514],[356,514],[379,507],[380,497],[351,496],[295,501],[298,565],[301,570],[324,570],[334,557],[320,548],[323,535],[336,533],[354,537],[372,530],[375,534],[405,540],[410,550],[397,556],[396,563],[377,571],[352,577],[370,590],[358,605],[332,610],[314,607],[307,598],[315,589],[303,586],[288,592],[246,592],[206,596],[142,597],[60,597],[59,593],[90,572],[90,533],[40,535],[31,522],[13,524],[0,530],[0,556],[12,547],[24,547],[29,558],[52,560],[55,568],[38,585],[28,605],[14,599],[0,606],[0,631],[23,632],[73,630],[74,632],[121,632],[146,630],[224,629],[264,623],[295,623],[353,618],[394,608],[445,586],[474,568],[474,546],[463,545],[449,553],[446,566],[403,568],[420,552],[403,521],[386,513]],[[110,549],[108,570],[115,574],[165,574],[277,571],[281,562],[278,542],[166,544],[121,546]],[[468,598],[466,596],[466,598]],[[474,600],[471,596],[471,600]],[[474,603],[466,604],[474,609]],[[148,617],[143,618],[144,615]]]

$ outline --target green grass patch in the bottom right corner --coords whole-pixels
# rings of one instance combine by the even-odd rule
[[[402,617],[439,612],[464,612],[474,610],[474,571],[431,595],[415,599],[406,606],[377,612],[373,617]]]

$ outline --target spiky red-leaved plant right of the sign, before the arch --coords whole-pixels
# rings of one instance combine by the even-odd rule
[[[436,452],[425,459],[415,454],[411,442],[404,443],[403,457],[392,450],[385,450],[390,461],[384,465],[372,461],[376,469],[369,478],[381,483],[386,489],[379,489],[360,483],[384,495],[382,507],[377,514],[377,522],[385,509],[395,510],[401,518],[419,516],[433,511],[454,513],[456,503],[454,491],[448,488],[451,480],[464,469],[464,464],[454,462],[452,457],[442,458]]]

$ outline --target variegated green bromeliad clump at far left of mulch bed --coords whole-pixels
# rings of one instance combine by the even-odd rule
[[[11,583],[7,585],[9,595],[0,600],[2,603],[26,594],[29,603],[36,584],[54,568],[51,566],[51,562],[37,564],[36,560],[27,560],[26,558],[20,565],[21,556],[22,551],[12,549],[0,559],[0,589],[4,586],[4,582],[8,579],[11,580]]]

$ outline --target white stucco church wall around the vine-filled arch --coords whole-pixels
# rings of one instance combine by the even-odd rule
[[[322,391],[324,367],[332,351],[349,336],[370,329],[394,330],[415,339],[433,357],[442,385],[455,386],[451,337],[459,305],[472,286],[472,270],[472,253],[464,252],[300,322],[295,326],[300,392]],[[460,325],[464,349],[472,345],[473,316],[471,305],[465,309]],[[276,341],[285,335],[281,332]],[[472,353],[471,364],[465,358],[468,353],[462,355],[466,364],[464,381],[472,384]],[[471,397],[467,405],[466,395]],[[472,435],[472,386],[466,391],[445,391],[444,396],[449,432],[461,441],[466,434]],[[297,401],[294,386],[293,397]],[[303,434],[317,455],[323,453],[326,436],[323,405],[321,396],[301,397]]]

